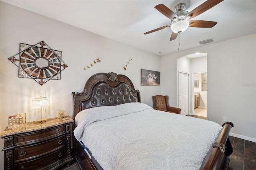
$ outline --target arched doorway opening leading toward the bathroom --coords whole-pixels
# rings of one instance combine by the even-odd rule
[[[188,83],[183,73],[188,74]],[[197,78],[194,75],[196,73],[200,73],[200,77]],[[187,85],[188,99],[187,94],[183,93],[187,92]],[[195,93],[198,93],[197,102]],[[177,59],[177,103],[177,107],[183,108],[181,109],[184,115],[193,117],[203,115],[202,119],[207,118],[207,53],[193,53]],[[196,111],[195,108],[197,108]]]

